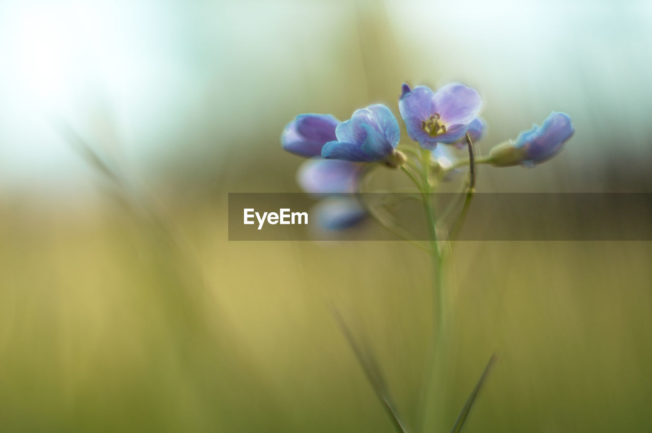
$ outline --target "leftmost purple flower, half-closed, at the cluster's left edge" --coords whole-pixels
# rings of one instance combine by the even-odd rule
[[[310,158],[321,155],[321,148],[336,139],[340,121],[327,114],[302,114],[289,122],[281,133],[283,148],[295,155]]]

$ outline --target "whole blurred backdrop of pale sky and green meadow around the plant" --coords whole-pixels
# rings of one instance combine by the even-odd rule
[[[479,89],[485,152],[571,115],[559,156],[479,191],[651,192],[651,53],[649,1],[4,0],[1,430],[391,432],[333,305],[413,425],[427,258],[229,242],[227,193],[299,191],[286,122],[398,115],[403,81]],[[466,431],[652,431],[651,258],[460,243],[439,425],[496,352]]]

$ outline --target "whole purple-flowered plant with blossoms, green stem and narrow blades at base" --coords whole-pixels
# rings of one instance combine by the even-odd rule
[[[509,139],[494,146],[488,155],[476,156],[474,144],[486,132],[486,122],[479,117],[481,109],[480,94],[460,83],[445,85],[436,92],[425,86],[411,89],[404,84],[398,98],[398,111],[405,122],[409,138],[419,143],[419,147],[400,143],[400,128],[396,117],[388,107],[381,104],[358,109],[351,115],[351,119],[344,122],[332,115],[299,115],[285,127],[281,143],[288,152],[309,158],[299,168],[297,182],[306,193],[321,199],[313,210],[321,229],[344,230],[361,223],[366,217],[372,217],[385,229],[430,255],[432,296],[434,300],[443,300],[449,298],[447,279],[444,276],[444,263],[448,262],[445,258],[452,254],[449,242],[458,238],[460,227],[469,211],[476,186],[476,165],[533,167],[556,155],[575,131],[569,115],[552,112],[541,126],[535,124],[530,130],[521,132],[515,140]],[[456,150],[462,148],[466,148],[468,158],[456,156]],[[398,218],[394,219],[393,210],[396,203],[403,203],[402,198],[394,202],[368,199],[361,194],[362,185],[370,183],[368,175],[383,165],[400,169],[417,189],[417,194],[408,195],[409,200],[421,203],[428,230],[428,238],[425,240],[421,240],[419,234],[412,230],[412,221],[401,224]],[[452,175],[464,167],[468,167],[468,177],[464,184],[464,195],[460,196],[463,199],[440,206],[441,203],[434,200],[432,192],[439,182],[451,180]],[[426,353],[437,353],[438,357],[440,353],[447,353],[447,347],[440,347],[440,344],[447,344],[452,339],[439,336],[439,333],[449,328],[447,320],[450,319],[445,314],[447,303],[440,301],[436,304],[437,329]],[[351,337],[351,331],[343,320],[340,320],[340,326],[355,354],[364,355],[358,356],[359,362],[372,382],[377,397],[387,409],[394,429],[398,433],[408,431],[385,388],[372,351]],[[493,360],[494,356],[487,363],[451,431],[459,432],[462,429]],[[417,415],[421,418],[419,422],[421,431],[424,432],[434,431],[426,423],[425,408],[428,407],[427,398],[431,391],[430,380],[427,378],[437,370],[435,358],[428,359],[424,371],[426,380],[421,384],[423,401],[417,410],[421,412]]]

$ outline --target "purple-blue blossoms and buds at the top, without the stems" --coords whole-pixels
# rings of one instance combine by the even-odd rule
[[[411,89],[403,84],[398,99],[409,138],[419,143],[422,152],[431,152],[431,163],[445,175],[458,167],[459,160],[451,148],[466,147],[467,141],[475,143],[483,137],[486,122],[479,117],[481,108],[479,92],[460,83],[447,84],[436,92],[426,86]],[[532,167],[557,154],[573,133],[571,118],[553,112],[541,127],[534,125],[516,141],[497,145],[489,158],[477,163]],[[351,193],[357,190],[361,165],[383,163],[396,168],[407,161],[406,154],[397,148],[400,128],[396,117],[382,104],[358,109],[344,122],[327,114],[298,115],[284,128],[281,143],[288,152],[310,158],[297,176],[308,193]],[[364,211],[355,200],[340,197],[329,203],[336,206],[338,211],[333,214],[338,217],[330,218],[329,206],[321,206],[324,227],[344,229],[363,219]],[[331,223],[335,219],[340,222]]]

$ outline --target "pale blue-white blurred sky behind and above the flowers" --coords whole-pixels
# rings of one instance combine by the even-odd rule
[[[482,92],[490,134],[516,135],[566,111],[578,131],[567,161],[599,160],[595,149],[611,140],[649,158],[651,5],[3,1],[0,180],[68,188],[88,175],[53,116],[144,173],[215,158],[243,137],[252,150],[278,146],[267,132],[301,111],[346,117],[367,102],[359,83],[368,68],[396,65],[396,89],[374,93],[379,102],[394,104],[404,79],[464,81]],[[358,33],[379,8],[394,53],[384,64],[365,54],[374,39]]]

